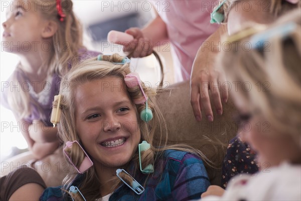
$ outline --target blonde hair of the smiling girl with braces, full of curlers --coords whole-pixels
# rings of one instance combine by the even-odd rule
[[[62,107],[62,115],[59,123],[59,134],[64,143],[67,141],[77,140],[81,143],[79,135],[76,131],[75,125],[75,93],[77,87],[86,82],[101,79],[105,77],[117,77],[120,78],[121,81],[124,82],[124,76],[130,73],[129,63],[125,64],[114,64],[112,62],[119,63],[123,57],[118,54],[113,54],[110,57],[104,57],[102,61],[98,61],[96,58],[91,58],[81,62],[80,64],[74,66],[70,72],[63,77],[61,81],[61,89],[60,94],[61,97],[61,107]],[[109,61],[109,62],[108,62]],[[67,84],[67,85],[64,85]],[[156,158],[163,154],[164,150],[167,149],[177,149],[183,151],[189,151],[191,153],[195,153],[200,155],[202,158],[206,159],[206,157],[199,150],[195,150],[187,145],[170,145],[167,146],[166,140],[168,138],[168,134],[165,132],[167,128],[164,124],[164,118],[159,110],[159,107],[156,103],[156,91],[152,88],[146,87],[143,82],[141,82],[142,88],[145,94],[148,96],[148,107],[153,111],[153,119],[149,122],[144,122],[140,120],[139,114],[145,109],[144,104],[134,104],[135,99],[139,99],[142,96],[141,90],[139,86],[135,86],[133,88],[128,88],[127,92],[132,101],[132,104],[135,106],[136,115],[138,120],[139,129],[141,132],[141,141],[145,140],[150,144],[150,149],[141,152],[141,161],[142,167],[148,164],[154,164]],[[57,103],[54,102],[54,106],[57,106]],[[160,148],[159,148],[160,147]],[[78,153],[78,158],[82,160],[83,152]],[[81,162],[81,161],[80,161]],[[127,169],[130,162],[134,164],[134,171],[139,171],[138,164],[138,151],[135,152],[131,161],[129,161],[123,169]],[[159,167],[158,167],[159,168]],[[68,174],[67,177],[63,181],[63,185],[67,186],[74,180],[76,174]],[[134,177],[134,175],[132,175]],[[97,180],[97,175],[94,167],[90,168],[84,175],[83,182],[78,186],[85,196],[87,200],[94,200],[99,198],[101,195],[99,194],[99,181]],[[113,179],[116,183],[114,187],[120,184],[120,179],[117,176]]]

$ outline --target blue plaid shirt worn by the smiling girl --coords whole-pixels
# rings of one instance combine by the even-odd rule
[[[112,193],[109,201],[199,199],[210,185],[203,161],[196,155],[176,150],[164,152],[163,157],[157,160],[152,175],[139,172],[134,178],[142,185],[147,178],[142,194],[135,194],[128,186],[122,184]],[[47,188],[40,198],[63,199],[61,186]]]

